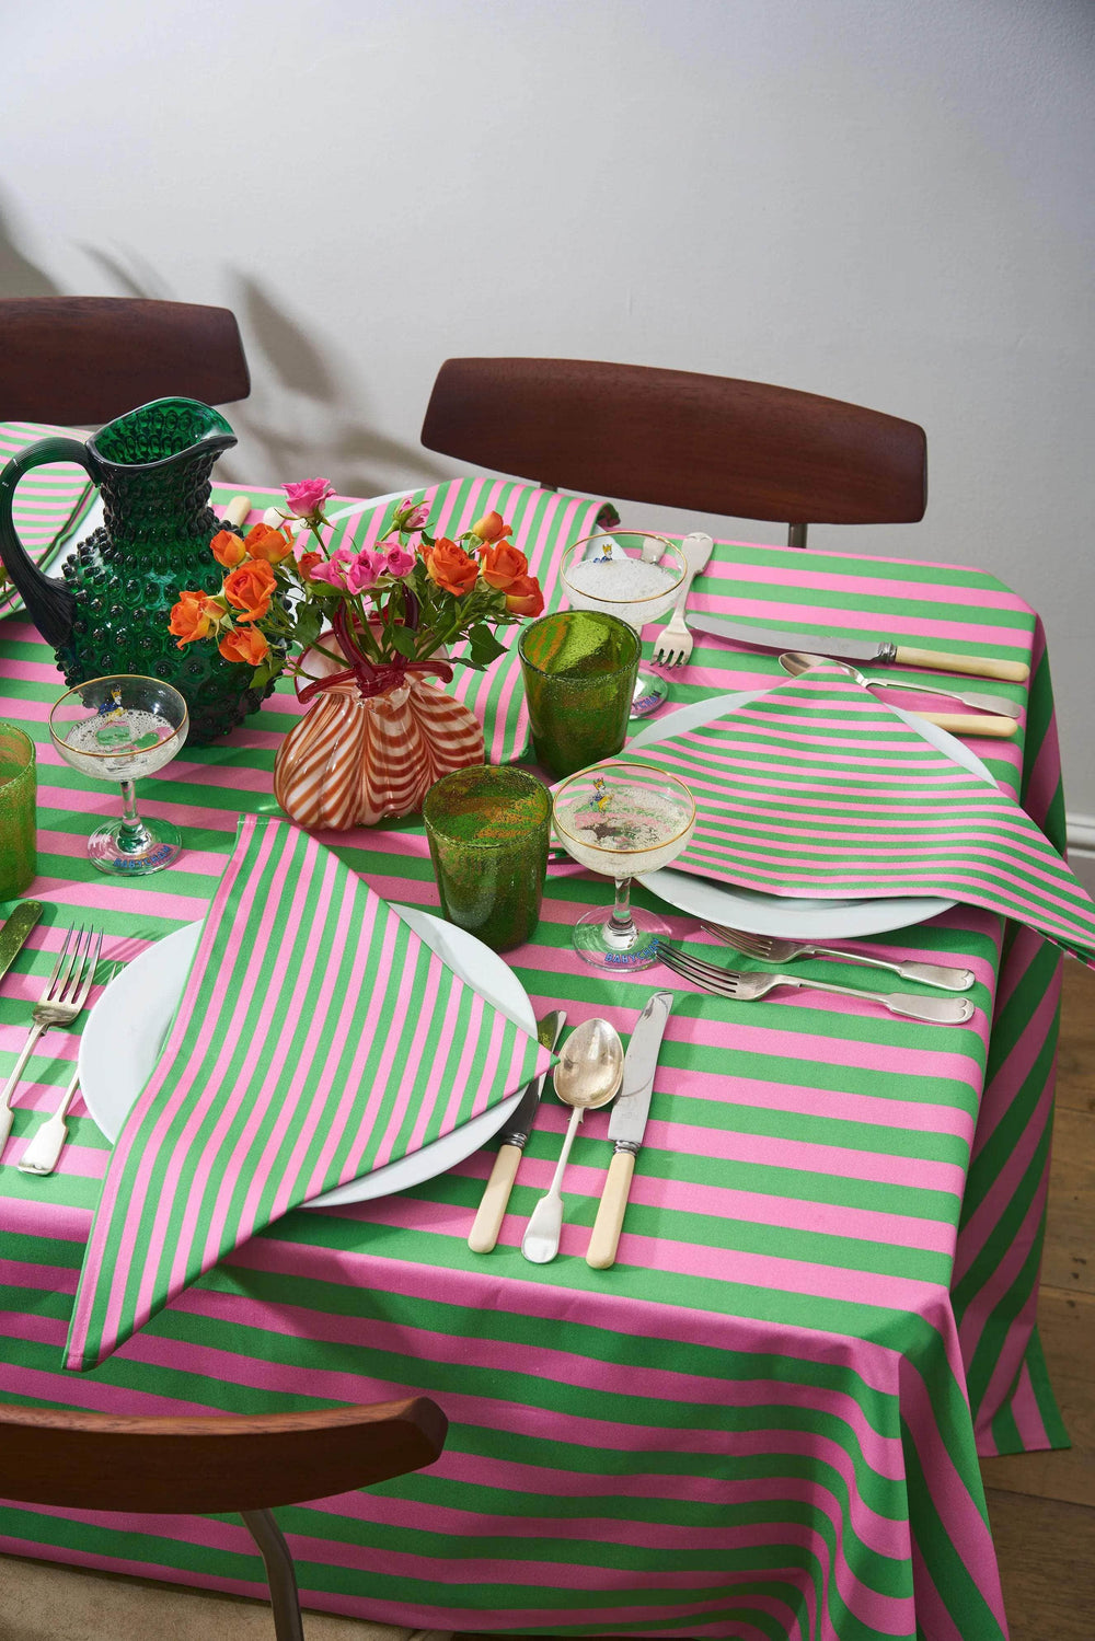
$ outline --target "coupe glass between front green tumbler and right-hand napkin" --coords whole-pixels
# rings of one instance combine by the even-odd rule
[[[580,866],[616,880],[612,906],[575,924],[575,950],[594,968],[650,968],[668,924],[630,904],[630,880],[676,860],[696,829],[696,801],[675,775],[619,758],[555,788],[555,832]]]

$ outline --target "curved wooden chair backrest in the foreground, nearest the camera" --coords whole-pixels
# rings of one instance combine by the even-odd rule
[[[447,1428],[428,1396],[253,1418],[0,1405],[0,1498],[184,1515],[268,1510],[420,1470],[440,1457]]]

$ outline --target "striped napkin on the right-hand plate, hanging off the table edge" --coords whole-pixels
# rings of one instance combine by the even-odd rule
[[[627,758],[696,799],[678,871],[768,894],[965,901],[1095,967],[1095,903],[1031,817],[837,666]]]

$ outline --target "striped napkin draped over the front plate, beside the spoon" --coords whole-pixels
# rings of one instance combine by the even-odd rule
[[[246,816],[95,1211],[66,1367],[300,1203],[460,1127],[553,1055],[330,850]]]

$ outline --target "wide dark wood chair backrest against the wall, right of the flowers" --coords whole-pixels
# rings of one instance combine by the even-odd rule
[[[611,501],[780,523],[913,523],[914,422],[791,387],[589,359],[447,359],[422,443]]]

